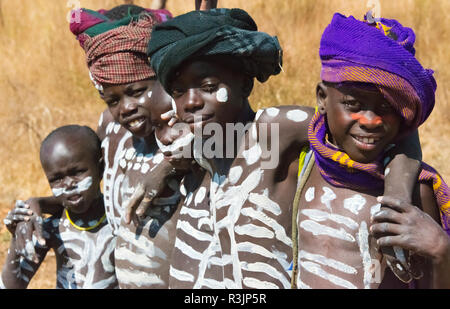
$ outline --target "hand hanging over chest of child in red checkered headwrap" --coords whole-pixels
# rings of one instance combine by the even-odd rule
[[[167,186],[166,179],[175,174],[175,169],[167,160],[163,160],[153,170],[147,173],[128,203],[125,206],[124,221],[133,221],[138,225],[140,218],[145,216],[152,200]]]

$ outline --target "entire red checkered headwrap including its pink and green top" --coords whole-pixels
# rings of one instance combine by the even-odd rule
[[[72,12],[70,30],[86,52],[90,77],[101,84],[128,84],[155,76],[147,59],[147,45],[154,25],[171,17],[166,10],[145,10],[120,20],[108,11],[80,9]]]

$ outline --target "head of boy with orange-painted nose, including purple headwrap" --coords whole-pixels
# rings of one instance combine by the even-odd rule
[[[414,32],[395,20],[358,21],[335,14],[321,44],[319,112],[329,141],[369,163],[422,124],[436,82],[414,57]]]

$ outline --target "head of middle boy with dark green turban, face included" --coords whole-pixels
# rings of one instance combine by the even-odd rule
[[[148,53],[178,117],[192,130],[197,119],[222,126],[246,120],[253,79],[264,82],[281,70],[278,40],[258,32],[239,9],[195,11],[160,24]]]

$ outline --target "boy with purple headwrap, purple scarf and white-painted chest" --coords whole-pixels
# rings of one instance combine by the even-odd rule
[[[380,196],[386,150],[435,103],[433,72],[414,57],[414,41],[395,20],[341,14],[323,33],[312,153],[294,202],[298,287],[404,286],[386,263],[410,287],[450,287],[450,191],[442,177],[421,163],[411,202]],[[400,263],[389,265],[380,251],[387,247]]]

